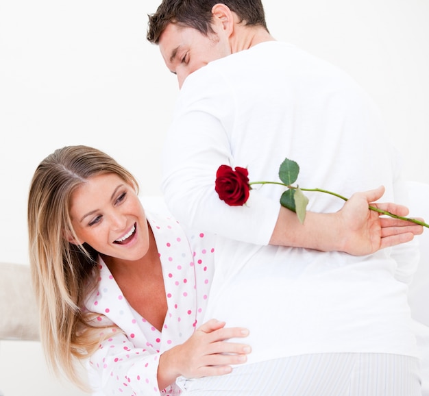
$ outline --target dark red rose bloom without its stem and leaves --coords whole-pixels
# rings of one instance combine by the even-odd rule
[[[221,165],[216,173],[215,190],[219,198],[230,206],[242,206],[249,198],[249,172],[237,166]]]

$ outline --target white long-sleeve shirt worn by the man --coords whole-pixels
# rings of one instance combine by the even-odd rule
[[[245,206],[215,193],[221,164],[250,181],[279,181],[284,158],[297,184],[350,197],[386,187],[395,201],[398,164],[376,106],[348,75],[282,42],[264,42],[210,62],[186,78],[163,155],[162,188],[183,224],[218,234],[206,318],[246,326],[249,362],[323,352],[415,356],[407,286],[415,271],[393,249],[354,257],[268,246],[281,186],[255,186]],[[308,210],[343,201],[306,193]],[[405,202],[404,202],[405,203]],[[402,254],[402,258],[406,255]]]

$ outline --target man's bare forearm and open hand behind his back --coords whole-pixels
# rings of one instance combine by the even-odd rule
[[[304,224],[299,222],[294,212],[282,207],[269,243],[320,251],[344,251],[363,256],[384,247],[409,242],[415,235],[421,234],[421,225],[384,218],[368,209],[371,203],[399,216],[408,214],[408,208],[402,205],[372,203],[380,199],[383,193],[383,187],[356,193],[339,212],[307,212]]]

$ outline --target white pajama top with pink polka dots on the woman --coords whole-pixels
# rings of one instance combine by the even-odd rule
[[[93,395],[180,395],[172,384],[158,388],[160,354],[184,343],[202,324],[214,270],[215,238],[184,231],[172,218],[146,213],[160,252],[167,316],[162,332],[126,301],[106,264],[99,258],[99,283],[86,308],[116,323],[125,334],[104,341],[90,357],[88,376]]]

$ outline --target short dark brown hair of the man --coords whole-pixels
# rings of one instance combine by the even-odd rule
[[[261,25],[267,29],[265,12],[260,0],[162,0],[158,10],[149,15],[147,40],[158,44],[169,23],[193,27],[207,36],[212,29],[213,5],[223,3],[246,25]],[[268,29],[267,29],[268,31]]]

